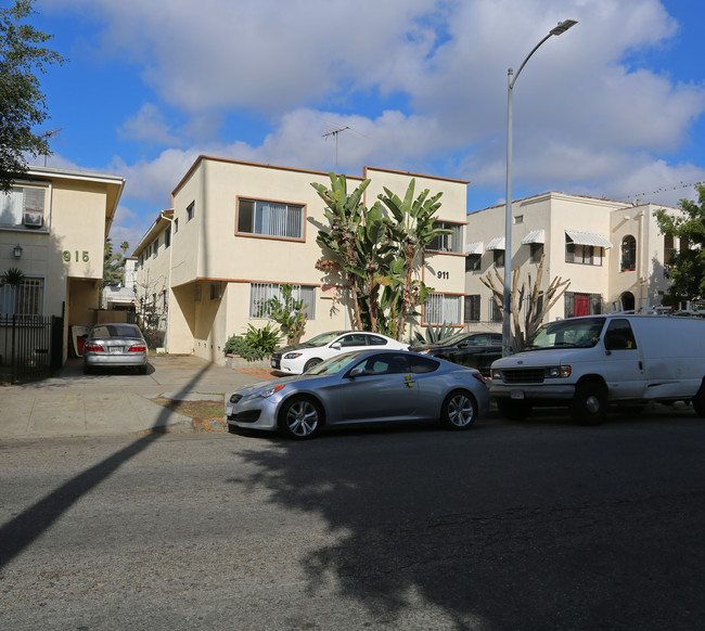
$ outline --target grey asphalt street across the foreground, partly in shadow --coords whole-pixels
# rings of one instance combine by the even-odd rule
[[[0,628],[705,628],[705,423],[658,409],[0,442]]]

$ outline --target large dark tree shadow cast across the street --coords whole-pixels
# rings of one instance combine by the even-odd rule
[[[705,615],[692,535],[705,517],[702,485],[672,493],[683,469],[658,471],[651,448],[623,453],[628,425],[611,433],[615,446],[600,432],[479,425],[274,439],[239,451],[257,474],[231,481],[320,516],[335,543],[303,558],[308,596],[332,576],[380,623],[422,607],[435,616],[428,628],[692,628]],[[664,538],[689,554],[675,564]]]

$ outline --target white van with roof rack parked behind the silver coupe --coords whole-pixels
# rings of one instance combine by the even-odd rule
[[[610,313],[544,324],[522,352],[492,362],[500,413],[524,418],[534,405],[567,405],[582,424],[607,404],[639,411],[649,401],[692,402],[705,416],[705,318]]]

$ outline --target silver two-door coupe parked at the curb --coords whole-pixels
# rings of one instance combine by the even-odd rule
[[[488,401],[476,370],[415,352],[359,350],[236,391],[226,417],[231,432],[279,429],[292,438],[310,438],[322,426],[422,420],[467,429]]]

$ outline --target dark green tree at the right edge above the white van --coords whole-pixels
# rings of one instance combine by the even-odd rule
[[[705,185],[697,184],[697,202],[681,199],[682,215],[656,210],[661,232],[680,242],[668,261],[669,288],[674,301],[705,297]]]

